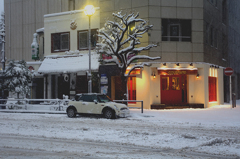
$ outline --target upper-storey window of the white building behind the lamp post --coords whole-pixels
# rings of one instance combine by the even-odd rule
[[[97,44],[97,30],[91,30],[91,48],[94,48]],[[78,49],[88,49],[88,30],[78,31]]]

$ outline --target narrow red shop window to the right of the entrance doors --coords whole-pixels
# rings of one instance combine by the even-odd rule
[[[217,78],[208,77],[209,102],[217,101]]]

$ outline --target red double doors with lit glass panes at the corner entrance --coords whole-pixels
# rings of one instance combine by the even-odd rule
[[[187,103],[186,75],[161,75],[161,103]]]

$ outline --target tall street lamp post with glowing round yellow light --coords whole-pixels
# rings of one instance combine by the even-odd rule
[[[92,93],[92,74],[91,74],[91,16],[95,13],[93,5],[87,5],[84,9],[84,13],[89,18],[88,28],[88,50],[89,50],[89,71],[88,71],[88,93]]]

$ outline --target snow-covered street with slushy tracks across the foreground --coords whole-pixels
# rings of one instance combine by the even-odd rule
[[[240,158],[240,101],[131,117],[0,113],[0,158]]]

